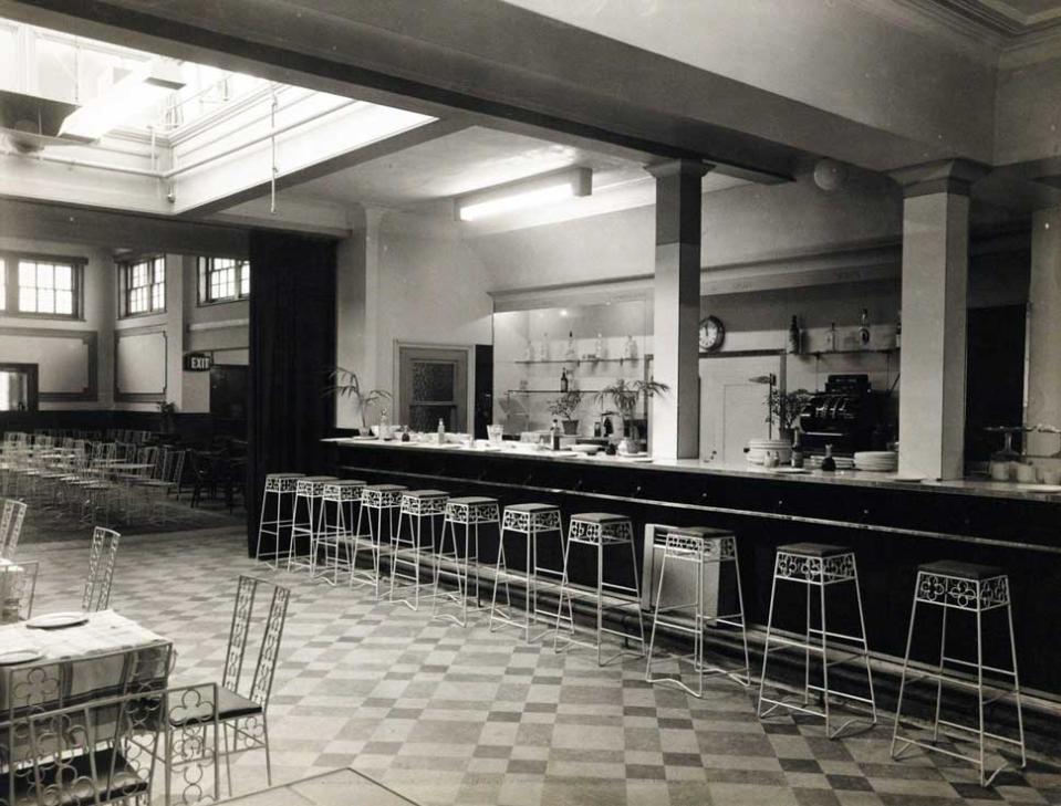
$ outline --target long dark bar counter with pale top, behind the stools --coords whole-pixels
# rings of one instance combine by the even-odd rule
[[[1003,567],[1010,575],[1022,688],[1061,701],[1061,495],[989,481],[909,482],[859,471],[784,475],[698,460],[581,458],[563,452],[332,439],[336,475],[453,495],[541,501],[565,516],[628,514],[646,523],[732,530],[749,622],[766,624],[778,545],[851,546],[859,562],[871,648],[901,658],[916,568],[935,559]],[[641,546],[638,546],[639,551]],[[802,607],[802,600],[800,600]]]

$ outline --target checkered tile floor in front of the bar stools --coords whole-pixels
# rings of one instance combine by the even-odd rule
[[[38,613],[76,606],[86,555],[86,542],[22,547],[43,561]],[[219,680],[240,573],[267,575],[235,528],[127,537],[111,604],[174,640],[183,681]],[[277,576],[293,596],[269,709],[274,783],[353,766],[425,806],[1061,804],[1057,768],[984,789],[960,761],[890,761],[887,725],[830,741],[819,721],[760,722],[727,680],[696,700],[647,685],[633,658],[599,669],[481,616],[461,629]],[[263,786],[263,754],[235,774],[237,792]]]

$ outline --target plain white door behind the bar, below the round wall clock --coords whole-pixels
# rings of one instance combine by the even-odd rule
[[[772,373],[782,380],[781,360],[777,354],[700,358],[700,459],[741,463],[748,440],[767,437],[770,387],[751,379]]]

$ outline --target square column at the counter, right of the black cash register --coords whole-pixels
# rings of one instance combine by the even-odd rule
[[[965,475],[969,187],[964,160],[893,174],[903,185],[903,353],[899,472]]]

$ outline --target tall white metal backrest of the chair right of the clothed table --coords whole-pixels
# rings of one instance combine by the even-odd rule
[[[291,592],[288,588],[257,577],[240,576],[236,588],[236,606],[232,609],[232,627],[229,630],[222,684],[231,691],[239,691],[243,656],[247,652],[250,626],[254,616],[254,599],[258,597],[259,588],[264,590],[264,595],[269,595],[271,589],[272,596],[269,600],[269,613],[266,615],[261,648],[258,651],[258,662],[254,664],[249,697],[264,709],[269,704],[272,679],[280,653],[280,640],[283,637],[283,625],[288,617],[288,601],[291,598]]]

